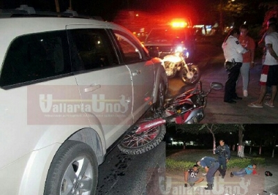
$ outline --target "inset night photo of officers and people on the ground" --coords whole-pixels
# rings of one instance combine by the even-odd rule
[[[277,124],[172,125],[165,194],[278,194]]]

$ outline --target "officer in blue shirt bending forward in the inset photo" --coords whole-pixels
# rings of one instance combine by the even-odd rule
[[[214,173],[219,168],[219,162],[213,157],[203,157],[197,162],[198,166],[202,166],[206,170],[206,182],[208,182],[208,187],[204,189],[213,189]]]

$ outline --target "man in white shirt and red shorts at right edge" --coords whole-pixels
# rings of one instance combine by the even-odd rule
[[[262,108],[263,100],[267,86],[271,87],[271,98],[264,104],[268,107],[274,107],[274,100],[277,93],[278,84],[278,33],[277,24],[272,23],[268,25],[268,31],[265,35],[265,61],[261,70],[261,93],[259,99],[256,102],[248,104],[248,107]]]

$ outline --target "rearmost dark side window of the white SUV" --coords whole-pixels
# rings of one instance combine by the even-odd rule
[[[0,86],[12,86],[71,72],[65,31],[34,33],[13,40],[0,76]]]

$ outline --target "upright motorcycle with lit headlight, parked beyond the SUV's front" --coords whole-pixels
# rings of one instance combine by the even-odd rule
[[[200,70],[193,63],[186,63],[189,57],[188,50],[182,43],[174,46],[171,54],[163,57],[164,68],[168,78],[175,77],[179,72],[179,77],[185,84],[196,84],[201,77]]]

